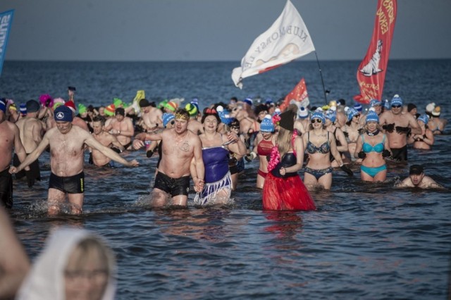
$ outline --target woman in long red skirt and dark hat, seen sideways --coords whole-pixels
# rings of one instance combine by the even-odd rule
[[[296,113],[280,114],[277,145],[268,163],[263,186],[263,208],[273,211],[311,211],[316,206],[297,171],[304,163],[302,138],[293,132]]]

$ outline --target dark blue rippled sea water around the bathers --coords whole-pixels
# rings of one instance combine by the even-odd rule
[[[245,78],[237,89],[231,62],[23,62],[7,61],[0,96],[18,103],[40,94],[94,106],[114,97],[199,99],[201,108],[231,96],[255,101],[283,98],[304,77],[311,105],[359,92],[358,61],[298,61]],[[325,99],[321,75],[330,94]],[[384,99],[400,94],[420,113],[435,102],[443,118],[451,111],[451,61],[390,61]],[[140,166],[103,169],[85,165],[85,206],[80,216],[47,215],[49,154],[39,158],[42,181],[14,182],[11,211],[18,237],[35,259],[49,231],[83,227],[106,238],[118,261],[117,299],[445,299],[449,287],[451,199],[449,189],[396,189],[409,164],[450,188],[450,127],[430,151],[409,149],[409,163],[388,164],[383,183],[333,172],[330,191],[315,191],[317,211],[262,211],[255,187],[258,162],[246,163],[233,204],[152,210],[147,206],[157,157],[125,151]],[[87,161],[87,158],[86,158]],[[299,172],[303,177],[303,170]],[[66,208],[68,211],[68,208]]]

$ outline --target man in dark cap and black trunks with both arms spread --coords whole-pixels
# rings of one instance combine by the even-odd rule
[[[59,212],[59,204],[65,201],[66,194],[72,213],[80,214],[83,211],[85,196],[85,173],[83,173],[85,144],[123,165],[131,167],[139,163],[136,160],[126,161],[113,150],[97,142],[89,132],[74,126],[73,113],[67,106],[56,108],[54,118],[56,128],[47,131],[37,148],[17,168],[11,167],[9,173],[14,174],[23,170],[36,161],[47,146],[50,146],[49,214]]]

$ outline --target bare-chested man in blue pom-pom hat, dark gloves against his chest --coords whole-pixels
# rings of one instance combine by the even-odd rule
[[[388,143],[392,151],[392,158],[397,161],[407,161],[407,135],[421,135],[420,125],[410,113],[402,112],[402,99],[399,95],[393,96],[390,102],[391,109],[384,111],[379,118]]]

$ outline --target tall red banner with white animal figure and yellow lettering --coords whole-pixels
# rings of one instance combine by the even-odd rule
[[[383,82],[387,71],[388,56],[395,30],[396,0],[378,0],[373,38],[366,56],[357,69],[360,94],[354,100],[369,104],[371,99],[382,99]]]

